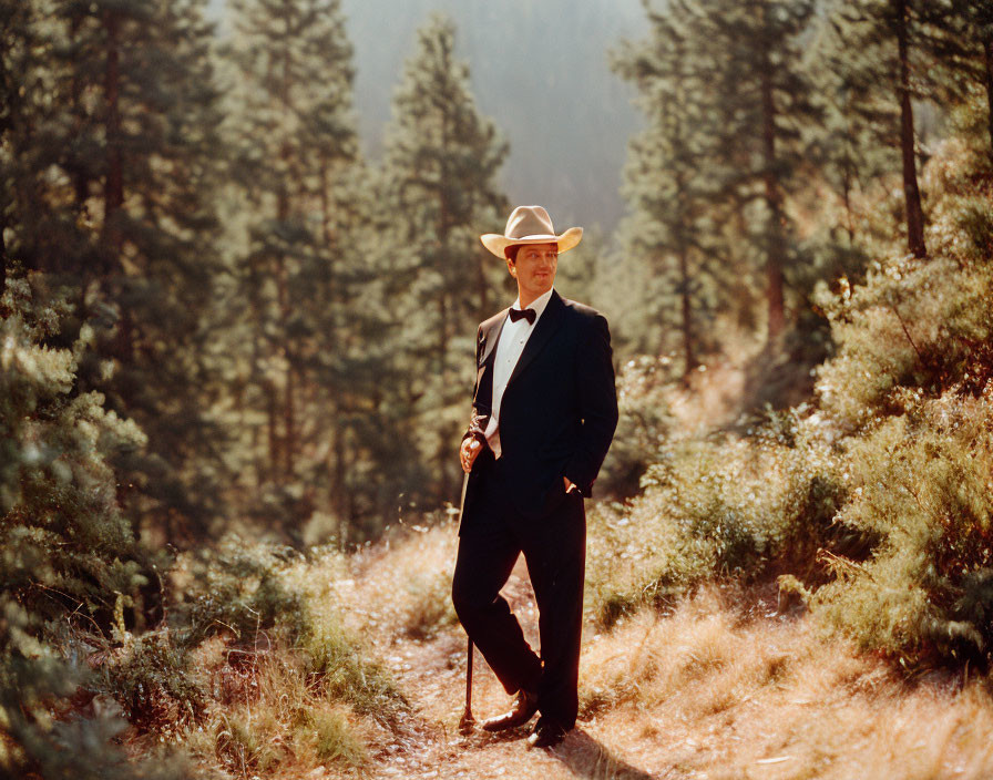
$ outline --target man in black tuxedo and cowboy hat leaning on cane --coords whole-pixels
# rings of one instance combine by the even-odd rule
[[[508,694],[490,731],[540,712],[529,747],[551,747],[579,710],[586,560],[583,499],[611,445],[617,397],[606,320],[554,290],[559,255],[583,236],[556,235],[540,206],[513,211],[504,235],[481,236],[506,263],[518,300],[479,326],[477,381],[460,458],[469,473],[452,602]],[[523,553],[539,608],[541,657],[500,589]]]

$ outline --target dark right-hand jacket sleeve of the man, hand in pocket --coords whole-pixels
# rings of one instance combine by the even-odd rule
[[[583,423],[580,443],[565,466],[565,476],[588,499],[617,428],[611,330],[602,315],[591,320],[574,371]]]

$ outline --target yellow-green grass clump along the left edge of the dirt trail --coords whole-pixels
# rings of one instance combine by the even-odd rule
[[[259,633],[248,647],[215,636],[194,651],[211,691],[185,747],[236,778],[369,777],[402,731],[406,708],[371,648],[342,626],[349,562],[329,552],[300,561],[284,584],[304,596],[308,628],[296,646]]]

